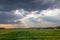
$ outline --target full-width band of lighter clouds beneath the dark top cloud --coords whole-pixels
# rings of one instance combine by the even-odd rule
[[[60,25],[60,9],[26,11],[24,9],[0,12],[2,24],[26,24],[29,27],[50,27]],[[24,27],[25,28],[25,27]]]

